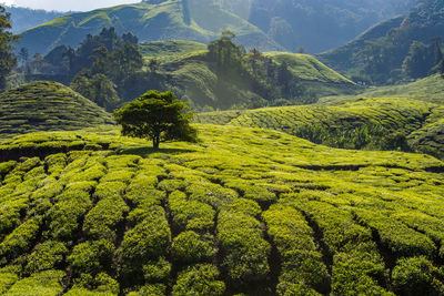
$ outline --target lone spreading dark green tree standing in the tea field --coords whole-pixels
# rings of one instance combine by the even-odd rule
[[[122,134],[149,139],[153,147],[160,142],[195,142],[198,131],[190,125],[193,113],[188,104],[174,99],[171,91],[149,91],[114,112],[115,121],[123,126]]]

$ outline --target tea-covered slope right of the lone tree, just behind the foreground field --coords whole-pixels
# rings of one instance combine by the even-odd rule
[[[444,157],[441,105],[403,98],[198,114],[201,123],[272,129],[314,143],[365,150],[413,150]]]

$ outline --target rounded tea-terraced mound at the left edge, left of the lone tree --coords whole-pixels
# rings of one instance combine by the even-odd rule
[[[104,110],[57,82],[32,82],[0,94],[0,134],[71,131],[113,124]]]

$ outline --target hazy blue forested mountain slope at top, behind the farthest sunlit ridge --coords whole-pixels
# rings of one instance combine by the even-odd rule
[[[213,0],[253,23],[287,51],[337,48],[417,0]]]

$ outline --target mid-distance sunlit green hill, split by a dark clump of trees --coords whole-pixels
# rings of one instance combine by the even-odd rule
[[[271,101],[270,96],[273,94],[260,92],[261,89],[256,84],[259,78],[245,79],[242,73],[221,73],[215,64],[205,58],[206,54],[208,52],[202,50],[159,59],[162,61],[159,72],[170,78],[168,80],[171,82],[170,88],[182,100],[189,101],[193,106],[214,109],[249,105],[252,101]],[[276,67],[285,61],[292,79],[300,83],[306,95],[320,98],[351,94],[360,89],[311,55],[286,52],[264,52],[263,55],[271,58]],[[266,86],[273,89],[273,85]]]

